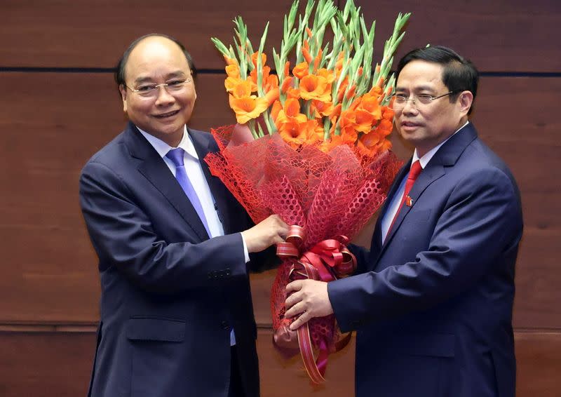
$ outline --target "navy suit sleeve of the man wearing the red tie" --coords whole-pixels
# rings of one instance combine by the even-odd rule
[[[329,283],[337,322],[346,331],[443,302],[500,266],[521,233],[511,179],[498,169],[468,175],[454,187],[428,249],[414,261]]]

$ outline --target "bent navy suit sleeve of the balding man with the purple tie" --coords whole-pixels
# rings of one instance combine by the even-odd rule
[[[126,183],[102,163],[84,167],[80,204],[100,271],[116,267],[138,288],[173,294],[247,277],[240,233],[196,244],[166,243]]]

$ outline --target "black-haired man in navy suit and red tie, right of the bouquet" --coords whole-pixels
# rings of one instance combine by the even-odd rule
[[[445,47],[400,60],[396,128],[415,147],[398,173],[357,274],[288,285],[292,328],[334,313],[357,330],[356,395],[515,395],[512,328],[522,236],[511,171],[468,121],[471,62]]]

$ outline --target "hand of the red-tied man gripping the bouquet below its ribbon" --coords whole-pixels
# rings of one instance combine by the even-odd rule
[[[297,330],[310,318],[329,316],[333,313],[329,295],[327,295],[327,283],[315,280],[297,280],[286,286],[286,292],[290,295],[286,298],[286,318],[300,315],[292,324],[291,330]]]

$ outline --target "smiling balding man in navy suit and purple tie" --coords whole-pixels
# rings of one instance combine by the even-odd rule
[[[286,224],[251,227],[210,175],[217,145],[186,126],[194,71],[175,39],[134,41],[116,72],[130,122],[81,174],[102,288],[89,396],[259,396],[246,267]]]

